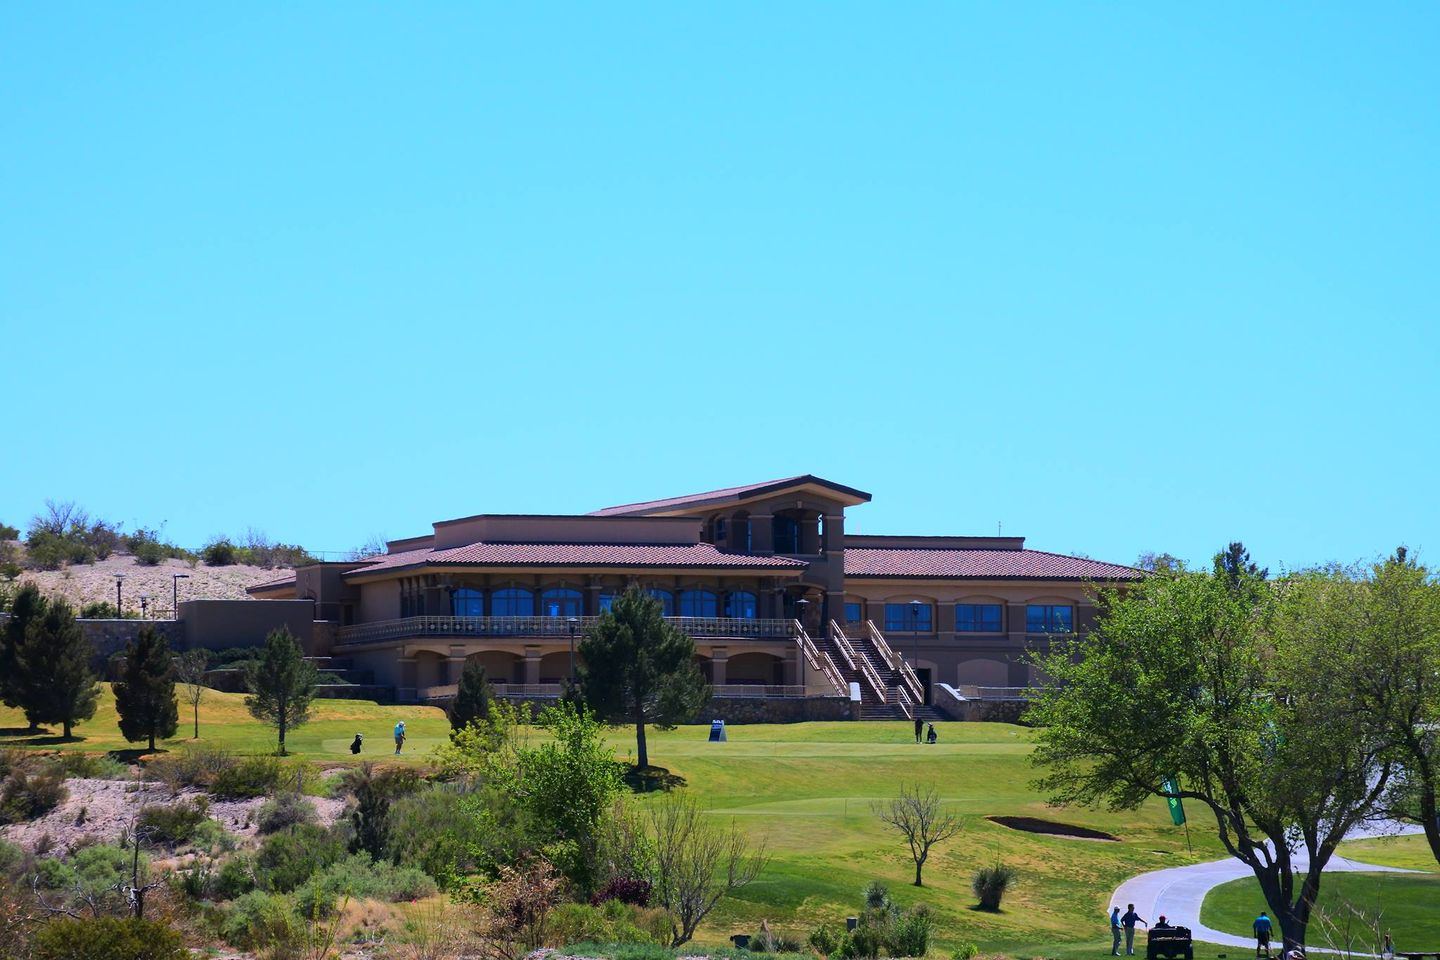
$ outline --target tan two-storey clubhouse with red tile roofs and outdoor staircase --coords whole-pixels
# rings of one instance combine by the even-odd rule
[[[1142,576],[1022,537],[847,534],[845,511],[868,501],[805,475],[573,517],[481,514],[249,593],[312,602],[310,652],[410,702],[445,699],[467,661],[503,695],[557,695],[572,643],[634,584],[694,638],[717,698],[909,717],[1018,694],[1028,651],[1084,630],[1097,587]]]

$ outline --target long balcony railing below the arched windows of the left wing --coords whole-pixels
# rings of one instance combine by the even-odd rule
[[[788,640],[793,620],[736,616],[667,616],[690,636],[724,636]],[[585,633],[599,617],[575,617],[575,633]],[[419,636],[570,636],[570,617],[563,616],[408,616],[340,628],[341,643],[379,643]]]

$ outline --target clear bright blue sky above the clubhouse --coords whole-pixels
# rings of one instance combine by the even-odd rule
[[[0,518],[1440,561],[1440,6],[0,7]]]

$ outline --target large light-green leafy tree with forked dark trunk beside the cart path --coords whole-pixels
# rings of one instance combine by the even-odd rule
[[[1269,584],[1231,544],[1212,573],[1103,593],[1096,629],[1038,658],[1054,681],[1031,712],[1040,786],[1057,803],[1135,809],[1158,796],[1208,810],[1286,944],[1303,944],[1320,871],[1392,770],[1356,710],[1356,676],[1333,669],[1356,626],[1351,586]]]

